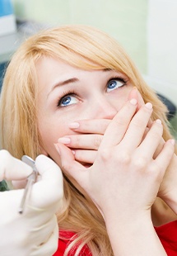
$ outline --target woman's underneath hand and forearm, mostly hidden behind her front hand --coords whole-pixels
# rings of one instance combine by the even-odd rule
[[[133,94],[133,95],[132,95]],[[135,97],[137,99],[137,111],[143,106],[143,100],[140,93],[136,94],[134,90],[130,92],[129,98]],[[93,164],[99,149],[100,142],[103,139],[105,130],[109,126],[110,120],[100,119],[100,120],[82,120],[74,122],[70,125],[72,130],[75,130],[77,134],[68,135],[69,140],[63,140],[60,138],[58,141],[67,145],[72,149],[75,159],[82,164]],[[148,125],[151,126],[152,122],[149,121]],[[67,143],[65,143],[67,141]],[[68,143],[68,141],[70,141]],[[161,138],[160,145],[156,149],[157,156],[163,146],[165,145],[165,140]],[[163,201],[167,203],[170,208],[177,214],[177,156],[173,155],[170,164],[165,172],[165,177],[161,183],[160,190],[158,192],[158,197],[161,197]],[[171,220],[175,218],[175,215],[171,211],[167,211],[166,207],[162,207],[164,210],[161,214],[166,216],[166,220],[170,217]],[[161,215],[160,214],[160,215]],[[169,217],[168,217],[169,216]],[[159,216],[160,218],[160,216]],[[170,219],[169,219],[170,220]],[[163,222],[163,221],[162,221]]]

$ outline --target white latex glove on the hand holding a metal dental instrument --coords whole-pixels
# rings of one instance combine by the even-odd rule
[[[24,189],[0,192],[0,248],[3,256],[51,256],[58,247],[55,213],[63,202],[63,176],[44,155],[35,159],[41,178],[32,187],[26,211],[18,213]],[[0,151],[0,180],[24,179],[32,169],[6,150]]]

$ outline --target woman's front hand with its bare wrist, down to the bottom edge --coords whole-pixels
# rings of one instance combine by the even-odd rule
[[[151,206],[174,145],[167,141],[153,159],[161,141],[161,121],[155,121],[144,138],[151,103],[135,114],[135,102],[127,102],[109,123],[90,168],[78,163],[66,145],[58,143],[58,153],[63,170],[86,191],[104,216],[114,255],[166,255],[151,223]]]

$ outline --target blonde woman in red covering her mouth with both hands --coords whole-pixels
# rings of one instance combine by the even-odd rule
[[[92,27],[43,31],[16,52],[2,88],[2,148],[62,168],[56,255],[174,253],[153,228],[177,212],[165,112],[119,44]]]

